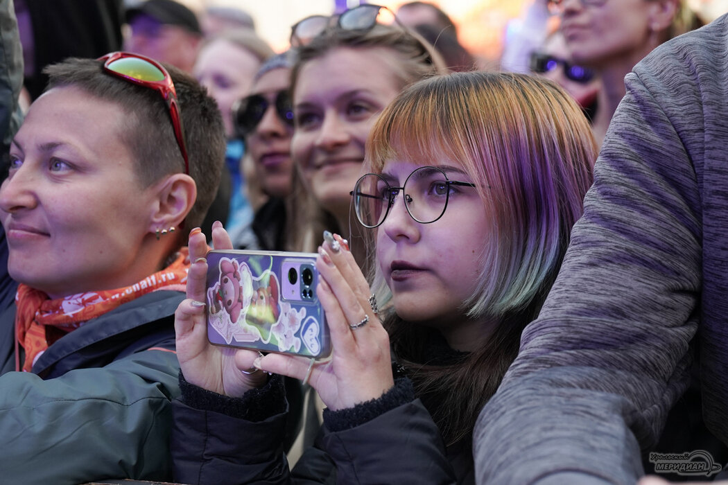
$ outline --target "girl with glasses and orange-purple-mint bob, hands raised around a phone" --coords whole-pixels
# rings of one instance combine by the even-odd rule
[[[318,248],[328,361],[208,344],[205,237],[190,236],[175,478],[287,479],[282,374],[328,408],[294,481],[475,483],[472,428],[554,281],[594,159],[585,116],[553,82],[472,72],[405,89],[373,125],[352,191],[372,285],[341,236]],[[213,239],[230,247],[219,226]]]

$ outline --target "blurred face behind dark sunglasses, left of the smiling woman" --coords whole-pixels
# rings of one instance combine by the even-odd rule
[[[268,108],[256,129],[245,138],[248,153],[253,158],[258,182],[264,193],[285,197],[290,193],[293,161],[290,158],[290,139],[293,127],[285,124],[275,110],[279,92],[290,86],[290,69],[268,71],[253,84],[251,95],[261,95],[268,101]]]

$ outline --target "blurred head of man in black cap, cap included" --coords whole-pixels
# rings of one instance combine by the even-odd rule
[[[127,9],[126,21],[130,35],[124,50],[192,72],[202,29],[189,8],[173,0],[147,0]]]

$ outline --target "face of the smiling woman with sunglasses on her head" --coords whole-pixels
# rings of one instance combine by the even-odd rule
[[[397,62],[384,47],[339,47],[298,71],[293,160],[317,201],[339,220],[349,214],[369,130],[400,92]]]

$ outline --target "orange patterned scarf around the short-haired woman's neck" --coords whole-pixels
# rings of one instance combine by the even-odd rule
[[[189,251],[184,247],[167,268],[125,288],[50,300],[44,292],[21,283],[15,295],[15,332],[17,342],[25,349],[23,371],[31,372],[50,345],[91,318],[159,289],[185,291],[188,269]]]

